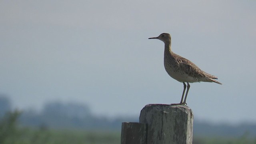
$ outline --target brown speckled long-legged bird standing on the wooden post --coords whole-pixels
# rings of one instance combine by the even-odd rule
[[[217,84],[222,84],[218,82],[216,79],[217,76],[213,76],[202,71],[196,64],[191,62],[190,60],[179,56],[172,52],[171,49],[171,36],[168,33],[162,33],[158,37],[148,38],[148,39],[158,39],[164,42],[164,68],[166,72],[177,80],[178,82],[182,82],[184,85],[182,97],[180,103],[174,105],[185,105],[186,99],[188,96],[188,90],[190,88],[189,83],[193,82],[215,82]],[[187,83],[187,85],[185,84]],[[187,90],[186,90],[187,87]],[[184,98],[184,93],[186,90],[186,95]],[[184,98],[184,101],[183,101]]]

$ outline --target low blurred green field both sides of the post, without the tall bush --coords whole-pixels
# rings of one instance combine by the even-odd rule
[[[21,128],[1,144],[120,144],[121,132],[84,130],[46,130]],[[256,140],[241,138],[200,138],[193,144],[256,144]]]

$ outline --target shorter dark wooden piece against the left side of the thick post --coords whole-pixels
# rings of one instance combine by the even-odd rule
[[[121,144],[146,144],[146,124],[122,122]]]

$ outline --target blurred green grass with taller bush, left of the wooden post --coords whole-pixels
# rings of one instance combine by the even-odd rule
[[[0,119],[0,144],[120,144],[120,132],[53,130],[18,126],[20,112],[8,112]]]

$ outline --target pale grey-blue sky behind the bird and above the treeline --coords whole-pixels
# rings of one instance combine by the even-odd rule
[[[254,0],[1,0],[0,94],[14,108],[78,102],[99,116],[180,102],[164,43],[223,85],[190,84],[194,118],[256,122]]]

